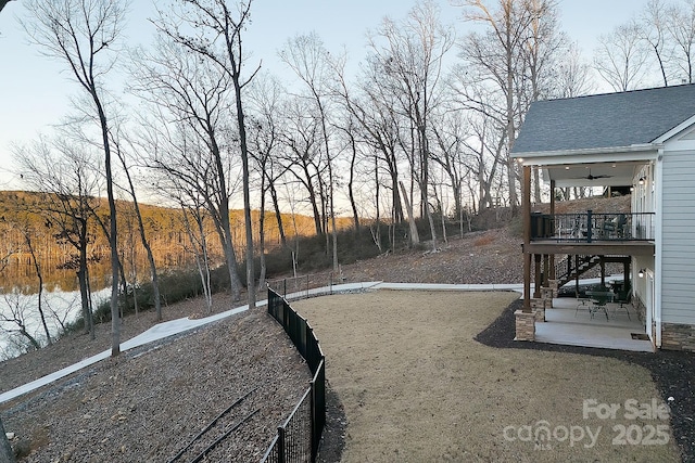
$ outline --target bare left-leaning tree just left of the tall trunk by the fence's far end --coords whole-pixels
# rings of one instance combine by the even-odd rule
[[[186,47],[165,40],[160,40],[154,53],[139,51],[131,70],[137,82],[132,90],[152,103],[157,118],[143,125],[150,130],[144,137],[146,163],[176,177],[178,184],[204,200],[225,252],[230,291],[238,300],[242,284],[229,220],[235,152],[224,139],[230,128],[231,82],[216,64],[201,63]]]

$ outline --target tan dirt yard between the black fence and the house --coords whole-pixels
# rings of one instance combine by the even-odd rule
[[[292,303],[344,408],[342,461],[681,461],[648,370],[473,340],[517,297],[380,291]]]

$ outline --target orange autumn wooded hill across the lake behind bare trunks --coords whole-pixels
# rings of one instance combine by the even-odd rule
[[[0,191],[0,287],[33,286],[36,273],[31,259],[31,249],[47,280],[65,290],[74,288],[75,271],[78,268],[77,252],[71,244],[75,233],[66,204],[73,198],[59,198],[55,194],[24,191]],[[72,204],[72,206],[75,206]],[[78,208],[79,209],[79,208]],[[138,221],[134,205],[118,201],[118,243],[125,270],[130,275],[147,279],[147,257],[140,242]],[[88,255],[91,280],[100,282],[109,279],[110,250],[104,229],[109,227],[109,207],[105,198],[90,197],[77,214],[86,220]],[[74,213],[75,210],[73,210]],[[181,209],[140,204],[146,236],[152,247],[159,269],[179,269],[194,267],[194,253],[191,237],[187,231]],[[264,220],[266,252],[281,246],[278,220],[274,213],[266,213]],[[260,214],[252,213],[254,235],[260,230]],[[311,236],[315,233],[312,217],[281,214],[280,220],[288,246],[292,246],[295,236]],[[190,224],[190,218],[188,218]],[[338,220],[338,228],[350,227],[349,219]],[[237,257],[241,260],[245,246],[243,231],[243,210],[230,211],[230,226]],[[219,237],[212,219],[203,213],[203,227],[207,253],[213,266],[224,262]]]

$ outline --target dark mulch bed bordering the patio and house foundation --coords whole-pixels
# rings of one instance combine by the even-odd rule
[[[560,346],[543,343],[521,343],[514,340],[516,320],[514,312],[521,309],[522,300],[507,307],[500,318],[482,331],[476,340],[485,346],[502,349],[534,349],[554,352],[571,352],[596,357],[611,357],[632,362],[652,372],[665,402],[670,403],[671,432],[681,449],[683,462],[695,462],[695,355],[692,352],[659,350],[657,352],[630,352],[624,350],[598,349],[578,346]]]

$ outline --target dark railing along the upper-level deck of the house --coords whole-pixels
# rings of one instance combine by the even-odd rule
[[[531,240],[653,241],[654,213],[586,213],[531,215]]]

